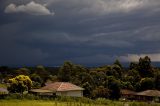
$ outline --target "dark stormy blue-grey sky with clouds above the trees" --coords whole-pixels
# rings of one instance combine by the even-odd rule
[[[160,0],[0,0],[0,65],[160,61]]]

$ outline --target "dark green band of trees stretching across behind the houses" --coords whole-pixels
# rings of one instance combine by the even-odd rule
[[[55,68],[40,65],[23,68],[0,67],[1,83],[15,84],[16,88],[18,86],[16,80],[21,82],[19,86],[23,85],[24,90],[41,88],[46,83],[63,81],[83,87],[84,96],[88,98],[119,99],[121,89],[160,90],[160,69],[152,66],[148,56],[140,58],[138,62],[131,62],[128,68],[124,68],[119,60],[112,65],[95,68],[87,68],[70,61],[65,61],[62,66]],[[15,88],[8,87],[8,90],[22,92],[21,89],[16,91]]]

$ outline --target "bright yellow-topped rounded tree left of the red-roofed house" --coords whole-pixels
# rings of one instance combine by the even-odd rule
[[[15,78],[9,79],[10,86],[8,87],[11,93],[21,93],[29,91],[32,86],[32,81],[28,76],[19,75]]]

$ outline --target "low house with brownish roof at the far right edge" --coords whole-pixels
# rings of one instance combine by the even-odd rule
[[[136,100],[139,101],[160,101],[160,91],[158,90],[146,90],[136,93]]]

